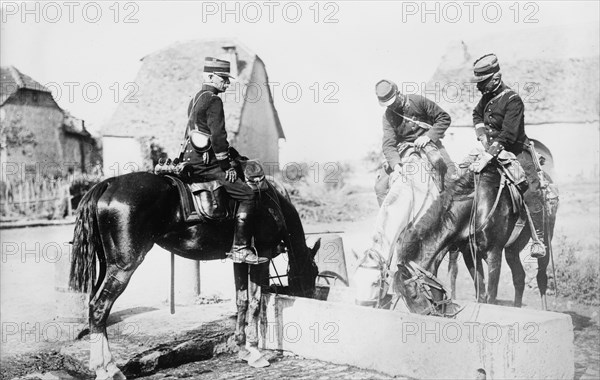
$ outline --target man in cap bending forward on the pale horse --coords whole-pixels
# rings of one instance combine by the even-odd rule
[[[401,143],[414,143],[417,149],[425,150],[442,189],[446,174],[453,175],[456,172],[441,141],[450,126],[450,115],[423,96],[400,93],[398,86],[390,80],[377,82],[375,93],[379,104],[387,107],[383,115],[382,147],[386,164],[380,169],[375,183],[379,206],[389,191],[390,176],[393,181],[402,170],[398,152]]]

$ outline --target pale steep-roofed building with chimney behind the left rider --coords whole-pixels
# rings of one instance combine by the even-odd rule
[[[278,166],[279,140],[285,135],[265,63],[238,41],[210,39],[178,42],[141,59],[134,81],[136,91],[102,127],[105,174],[120,174],[117,168],[149,168],[150,152],[156,147],[177,157],[188,105],[202,86],[207,56],[230,61],[235,77],[228,91],[220,95],[230,144],[243,155]]]

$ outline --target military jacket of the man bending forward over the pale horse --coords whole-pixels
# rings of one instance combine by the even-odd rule
[[[388,107],[383,115],[383,154],[390,167],[400,163],[397,146],[402,142],[414,142],[419,136],[427,135],[434,143],[439,143],[450,126],[450,115],[435,102],[420,96],[406,95],[402,107]],[[429,130],[418,127],[414,122],[425,122],[433,127]]]

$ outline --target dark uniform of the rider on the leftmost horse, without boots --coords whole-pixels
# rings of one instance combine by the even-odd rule
[[[199,182],[217,180],[233,199],[253,199],[254,192],[243,181],[239,170],[235,182],[231,183],[225,179],[225,171],[231,168],[230,159],[236,159],[237,152],[229,147],[223,101],[217,95],[216,89],[212,86],[202,86],[200,92],[190,101],[188,115],[189,124],[181,159],[190,164],[191,179]],[[188,134],[194,129],[210,135],[211,148],[206,153],[198,152],[192,147]],[[208,154],[208,163],[204,163],[204,154]]]

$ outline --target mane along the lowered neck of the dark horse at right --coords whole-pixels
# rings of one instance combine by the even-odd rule
[[[432,235],[430,231],[441,231],[445,224],[454,224],[456,217],[452,206],[456,201],[464,200],[473,194],[474,178],[473,172],[465,170],[461,176],[448,182],[446,189],[433,201],[419,222],[407,229],[401,243],[399,261],[415,260],[423,241]]]

